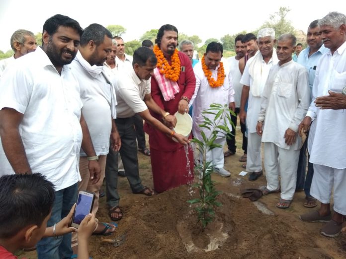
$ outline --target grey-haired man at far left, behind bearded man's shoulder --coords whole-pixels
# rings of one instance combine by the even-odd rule
[[[35,51],[36,47],[35,35],[31,31],[16,30],[11,36],[11,48],[14,55],[0,61],[0,76],[7,65],[12,64],[15,59]]]

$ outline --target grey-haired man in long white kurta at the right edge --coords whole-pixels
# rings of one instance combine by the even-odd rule
[[[344,110],[335,110],[345,109],[340,101],[345,100],[342,95],[346,90],[346,15],[330,12],[318,21],[318,25],[322,42],[329,52],[322,56],[316,69],[313,102],[300,128],[308,130],[311,121],[316,120],[310,150],[310,162],[314,164],[310,194],[321,202],[321,207],[301,215],[300,219],[328,222],[321,229],[321,234],[336,237],[341,233],[346,215],[346,116]],[[319,96],[323,97],[317,98]],[[336,102],[333,104],[333,101]],[[332,216],[330,199],[333,190]]]

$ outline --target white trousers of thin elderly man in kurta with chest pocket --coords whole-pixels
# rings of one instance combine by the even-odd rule
[[[283,149],[271,142],[264,142],[264,168],[267,189],[279,189],[281,177],[281,198],[292,200],[297,182],[297,168],[300,150]]]

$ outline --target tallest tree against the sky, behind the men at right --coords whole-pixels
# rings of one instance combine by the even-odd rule
[[[291,25],[291,21],[287,20],[287,13],[290,12],[288,7],[280,7],[277,12],[270,14],[269,20],[264,22],[263,25],[256,31],[256,34],[260,29],[269,27],[275,30],[275,38],[277,39],[280,35],[285,33],[297,34],[296,29]]]

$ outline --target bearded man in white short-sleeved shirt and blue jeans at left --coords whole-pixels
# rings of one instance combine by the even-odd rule
[[[81,145],[88,157],[96,156],[81,114],[79,84],[66,66],[77,54],[82,33],[76,20],[52,16],[43,25],[42,47],[8,67],[0,82],[0,134],[13,168],[4,171],[1,166],[0,174],[40,172],[54,184],[48,227],[67,216],[76,202]],[[88,168],[97,183],[97,161],[89,161]],[[71,234],[42,239],[37,255],[39,259],[70,258]]]

